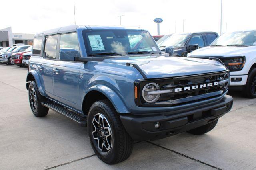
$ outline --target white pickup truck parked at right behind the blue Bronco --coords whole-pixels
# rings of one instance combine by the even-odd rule
[[[230,90],[256,98],[256,30],[224,33],[209,47],[193,51],[188,57],[219,58],[230,70]]]

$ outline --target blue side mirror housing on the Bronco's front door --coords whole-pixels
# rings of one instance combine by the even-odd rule
[[[80,57],[78,50],[72,48],[60,49],[60,61],[75,61],[75,57]]]

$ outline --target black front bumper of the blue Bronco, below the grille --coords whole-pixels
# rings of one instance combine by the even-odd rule
[[[232,96],[225,95],[218,104],[186,112],[156,113],[154,115],[121,115],[124,128],[135,141],[155,140],[176,135],[215,121],[230,111],[233,104]],[[156,122],[160,128],[155,129]]]

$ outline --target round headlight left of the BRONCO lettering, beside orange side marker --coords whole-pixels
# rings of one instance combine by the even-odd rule
[[[160,94],[154,94],[152,92],[160,90],[160,87],[156,83],[148,83],[142,90],[142,97],[148,103],[154,103],[160,98]]]

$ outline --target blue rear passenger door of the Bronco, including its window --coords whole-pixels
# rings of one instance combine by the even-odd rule
[[[53,63],[56,59],[58,35],[45,37],[43,59],[38,66],[46,94],[54,98],[53,94]]]

